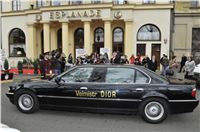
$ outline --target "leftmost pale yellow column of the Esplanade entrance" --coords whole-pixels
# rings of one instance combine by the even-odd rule
[[[36,59],[37,56],[37,47],[36,47],[36,27],[33,23],[29,23],[28,25],[28,43],[26,44],[26,56],[30,59]]]

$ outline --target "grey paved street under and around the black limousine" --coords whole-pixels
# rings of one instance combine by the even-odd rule
[[[23,114],[12,105],[5,93],[13,82],[3,83],[2,122],[22,132],[199,132],[200,105],[193,113],[170,115],[161,124],[148,124],[139,116],[78,113],[68,111],[39,110]],[[200,90],[198,90],[200,99]]]

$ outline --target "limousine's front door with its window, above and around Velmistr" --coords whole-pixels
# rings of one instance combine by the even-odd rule
[[[87,91],[88,80],[92,74],[92,67],[76,67],[59,76],[60,83],[49,91],[51,96],[48,103],[64,107],[89,107],[88,96],[92,93]]]

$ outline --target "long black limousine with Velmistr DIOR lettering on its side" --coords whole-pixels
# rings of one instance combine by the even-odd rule
[[[51,80],[24,81],[6,93],[23,113],[45,107],[93,112],[139,113],[160,123],[171,113],[192,112],[199,104],[195,85],[170,81],[142,66],[81,65]]]

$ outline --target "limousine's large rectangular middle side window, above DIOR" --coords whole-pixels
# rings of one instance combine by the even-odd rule
[[[134,83],[135,70],[131,68],[107,68],[106,83]]]

